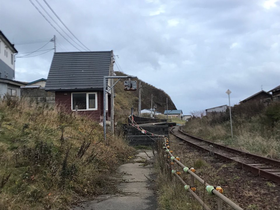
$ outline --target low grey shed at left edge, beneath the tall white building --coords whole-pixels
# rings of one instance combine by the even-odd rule
[[[3,98],[5,95],[20,98],[20,86],[24,86],[25,84],[20,81],[0,78],[0,98]]]

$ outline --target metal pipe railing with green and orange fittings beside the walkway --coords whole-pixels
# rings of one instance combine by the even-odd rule
[[[165,157],[167,157],[167,160],[169,162],[169,164],[167,164],[168,166],[171,165],[171,173],[176,176],[181,183],[184,185],[184,188],[186,190],[188,190],[188,192],[191,193],[191,195],[193,196],[194,199],[197,200],[197,202],[199,202],[199,204],[204,207],[204,209],[209,209],[208,206],[206,206],[206,204],[195,194],[195,182],[194,179],[196,179],[197,181],[199,181],[200,183],[202,183],[203,185],[206,186],[206,191],[210,194],[210,195],[216,195],[218,197],[217,199],[217,205],[218,205],[218,209],[222,210],[222,201],[225,202],[227,205],[229,205],[230,207],[232,207],[233,209],[238,209],[238,210],[243,210],[240,206],[238,206],[237,204],[235,204],[234,202],[232,202],[230,199],[228,199],[227,197],[225,197],[222,192],[223,189],[220,186],[214,187],[212,185],[209,185],[206,181],[204,181],[202,178],[200,178],[199,176],[197,176],[194,172],[195,169],[194,168],[188,168],[186,167],[183,163],[180,162],[180,158],[179,157],[174,157],[172,155],[173,151],[169,150],[170,146],[169,146],[169,140],[167,137],[164,138],[164,142],[163,142],[164,146],[163,149],[165,150],[165,152],[168,155],[164,155]],[[176,162],[180,167],[183,168],[183,171],[185,173],[190,174],[190,178],[191,178],[191,187],[190,185],[187,185],[185,183],[185,181],[179,176],[181,174],[181,172],[178,172],[176,170],[173,170],[173,164],[174,162]]]

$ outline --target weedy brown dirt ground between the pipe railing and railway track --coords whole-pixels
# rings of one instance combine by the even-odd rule
[[[209,153],[202,152],[170,135],[170,150],[181,158],[187,167],[194,167],[195,173],[213,186],[221,186],[223,195],[243,209],[280,209],[280,185],[243,170],[234,162],[225,161]],[[176,164],[178,170],[182,169]],[[182,173],[183,174],[183,173]],[[182,176],[182,175],[181,175]],[[183,175],[185,181],[189,175]],[[190,182],[189,182],[190,183]],[[207,195],[205,187],[196,182],[196,194],[205,199],[209,207],[216,209],[216,198]],[[223,209],[230,209],[223,203]]]

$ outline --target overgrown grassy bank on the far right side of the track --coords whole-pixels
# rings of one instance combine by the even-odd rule
[[[235,105],[232,108],[233,138],[229,110],[186,122],[183,130],[213,142],[270,158],[280,158],[280,103]]]

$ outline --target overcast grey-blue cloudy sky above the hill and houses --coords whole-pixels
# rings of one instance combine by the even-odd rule
[[[43,0],[37,1],[48,8]],[[228,88],[232,104],[237,104],[259,92],[261,85],[265,91],[280,85],[280,1],[47,2],[85,46],[114,50],[122,71],[167,92],[184,114],[228,104]],[[12,43],[55,34],[58,52],[77,51],[29,0],[0,0],[0,30]],[[32,52],[44,44],[15,48]],[[52,42],[40,50],[51,48]],[[27,54],[17,56],[22,55]],[[47,78],[52,56],[53,50],[17,58],[15,79]]]

